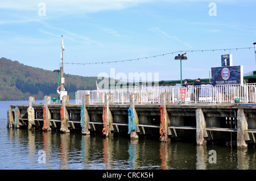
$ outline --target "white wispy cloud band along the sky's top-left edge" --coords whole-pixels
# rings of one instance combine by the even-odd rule
[[[58,14],[73,14],[80,12],[98,12],[102,10],[121,10],[127,7],[136,6],[139,3],[151,2],[152,0],[44,0],[47,11]],[[7,1],[0,2],[0,9],[20,10],[20,11],[37,11],[40,1],[23,0],[23,1]]]

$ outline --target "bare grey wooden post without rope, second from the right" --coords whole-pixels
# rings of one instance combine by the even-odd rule
[[[204,129],[207,124],[204,118],[204,113],[201,108],[196,110],[196,143],[197,145],[206,145],[207,138],[204,137]]]

